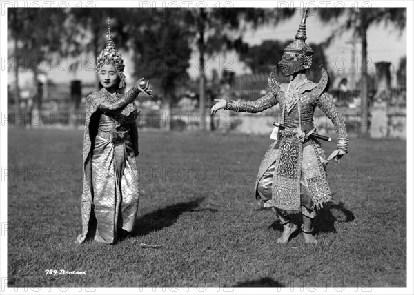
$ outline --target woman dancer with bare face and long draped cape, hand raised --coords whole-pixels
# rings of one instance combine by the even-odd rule
[[[115,243],[134,226],[138,210],[138,130],[141,111],[134,104],[140,92],[151,93],[148,81],[139,79],[126,94],[124,61],[115,49],[108,19],[108,41],[97,57],[101,90],[86,99],[83,136],[82,233],[76,243],[93,238]]]

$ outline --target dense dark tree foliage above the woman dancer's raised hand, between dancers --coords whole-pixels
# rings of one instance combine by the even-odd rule
[[[175,89],[189,79],[193,37],[178,8],[139,10],[141,26],[130,37],[135,75],[155,79],[167,101],[175,100]]]

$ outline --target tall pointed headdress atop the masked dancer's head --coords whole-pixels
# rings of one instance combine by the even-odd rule
[[[295,41],[290,43],[284,49],[285,52],[291,52],[296,54],[295,59],[303,58],[305,59],[305,67],[311,68],[312,64],[312,55],[313,50],[311,46],[309,46],[305,40],[306,38],[306,18],[308,17],[308,8],[305,8],[304,16],[302,17],[302,21],[300,22],[299,28],[297,29],[297,33],[295,36]]]

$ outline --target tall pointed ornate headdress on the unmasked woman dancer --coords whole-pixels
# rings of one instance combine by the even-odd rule
[[[97,57],[97,74],[101,71],[103,65],[113,65],[117,70],[119,79],[119,88],[125,87],[125,75],[124,75],[124,60],[122,59],[121,53],[115,48],[115,43],[112,40],[112,32],[110,30],[110,19],[108,17],[108,34],[106,34],[106,46],[103,48],[101,53]]]

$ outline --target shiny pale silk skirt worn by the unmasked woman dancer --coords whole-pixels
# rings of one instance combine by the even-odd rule
[[[120,229],[132,231],[138,211],[139,172],[129,135],[117,143],[96,136],[92,187],[97,219],[95,241],[114,243]]]

